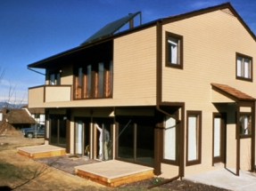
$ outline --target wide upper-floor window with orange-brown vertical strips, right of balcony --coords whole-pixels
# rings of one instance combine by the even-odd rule
[[[112,95],[113,66],[104,61],[75,68],[75,99],[109,98]]]

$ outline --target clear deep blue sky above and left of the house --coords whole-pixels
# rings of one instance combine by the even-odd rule
[[[256,34],[256,1],[230,0]],[[0,0],[0,101],[28,100],[28,87],[44,84],[45,76],[27,65],[83,43],[107,23],[142,12],[146,23],[171,15],[223,4],[221,0]],[[43,71],[44,72],[44,71]]]

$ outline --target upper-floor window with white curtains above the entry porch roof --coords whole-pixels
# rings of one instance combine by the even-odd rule
[[[236,53],[236,78],[252,81],[252,57]]]

